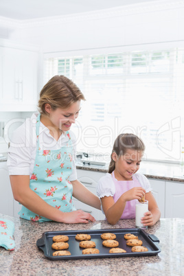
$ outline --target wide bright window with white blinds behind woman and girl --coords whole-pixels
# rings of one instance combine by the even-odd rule
[[[45,82],[72,79],[87,101],[76,127],[78,150],[111,154],[119,133],[146,144],[146,159],[181,161],[184,49],[45,59]]]

